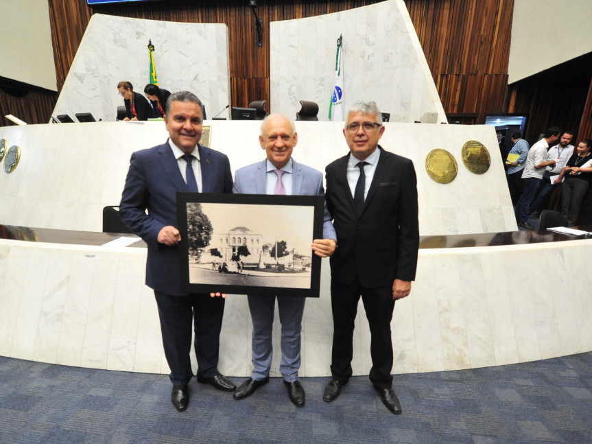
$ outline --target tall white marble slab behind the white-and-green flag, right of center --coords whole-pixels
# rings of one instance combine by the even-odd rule
[[[444,109],[402,0],[270,23],[270,89],[274,113],[294,115],[300,100],[328,120],[336,41],[342,40],[344,105],[375,100],[390,121],[413,122]]]

